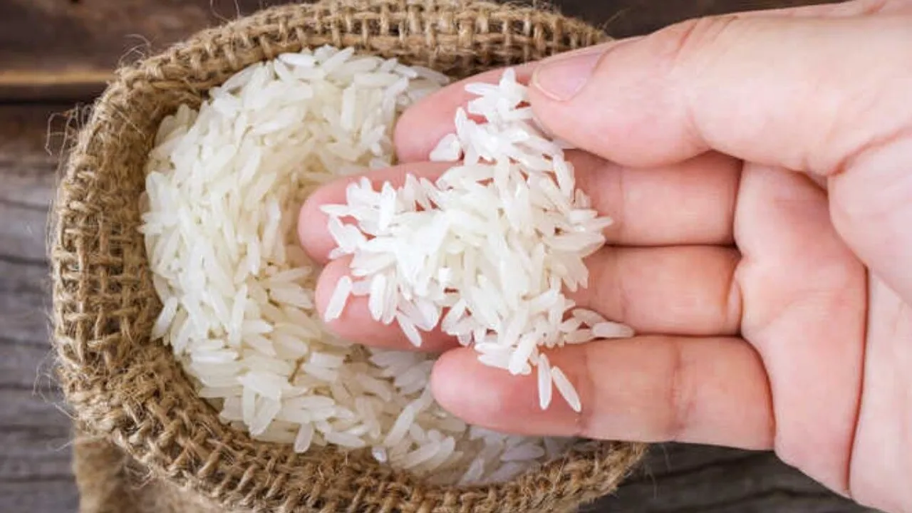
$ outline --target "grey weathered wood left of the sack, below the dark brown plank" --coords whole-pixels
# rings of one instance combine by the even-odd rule
[[[0,511],[63,513],[78,502],[69,418],[49,373],[44,245],[57,169],[48,120],[67,108],[0,107]]]

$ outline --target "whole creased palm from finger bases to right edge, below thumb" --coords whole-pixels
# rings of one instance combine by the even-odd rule
[[[744,165],[734,281],[741,336],[769,377],[775,449],[862,498],[912,470],[903,407],[912,380],[901,371],[912,316],[837,235],[830,211],[842,206],[803,174]]]

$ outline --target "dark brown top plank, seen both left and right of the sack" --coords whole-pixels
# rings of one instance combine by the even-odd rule
[[[523,0],[534,3],[537,0]],[[825,0],[556,0],[614,36],[695,16]],[[275,0],[6,0],[0,2],[0,98],[90,99],[119,62],[160,50]]]

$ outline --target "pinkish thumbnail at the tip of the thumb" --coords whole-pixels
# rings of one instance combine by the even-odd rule
[[[572,99],[586,86],[605,52],[605,47],[591,47],[547,59],[535,68],[532,87],[550,99]]]

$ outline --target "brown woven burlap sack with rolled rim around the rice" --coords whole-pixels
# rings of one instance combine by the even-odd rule
[[[54,339],[78,429],[81,510],[551,513],[614,490],[642,445],[581,448],[499,486],[433,487],[367,455],[296,455],[224,426],[150,341],[161,304],[137,232],[162,117],[249,64],[328,43],[464,77],[603,37],[533,8],[327,0],[267,9],[120,69],[78,132],[52,226]]]

